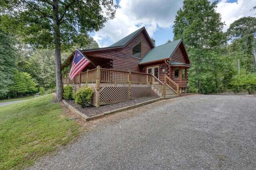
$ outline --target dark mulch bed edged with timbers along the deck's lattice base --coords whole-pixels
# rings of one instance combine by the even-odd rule
[[[152,99],[155,99],[155,98],[154,97],[138,98],[135,100],[128,100],[128,101],[120,102],[120,103],[116,103],[116,104],[102,105],[98,108],[95,106],[92,106],[92,105],[87,105],[86,107],[81,108],[78,104],[75,103],[74,100],[66,100],[66,102],[68,102],[68,104],[75,107],[76,109],[78,109],[78,111],[85,114],[86,116],[92,117],[92,116],[104,113],[105,111],[110,111],[110,110],[114,110],[114,109],[118,109],[118,108],[122,108],[122,107],[126,107],[126,106],[131,106],[131,105],[146,102],[146,101],[152,100]]]

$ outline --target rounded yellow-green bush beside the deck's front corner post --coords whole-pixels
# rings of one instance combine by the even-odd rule
[[[84,108],[86,104],[88,104],[88,102],[92,99],[92,94],[92,88],[82,87],[76,91],[73,97],[75,102]]]

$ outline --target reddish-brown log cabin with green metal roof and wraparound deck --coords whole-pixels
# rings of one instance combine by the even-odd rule
[[[88,85],[90,104],[99,107],[140,97],[174,98],[186,93],[191,63],[182,39],[154,47],[145,27],[109,47],[81,51],[89,63],[74,80],[68,71],[74,53],[62,64],[63,84]],[[97,68],[95,68],[95,66]]]

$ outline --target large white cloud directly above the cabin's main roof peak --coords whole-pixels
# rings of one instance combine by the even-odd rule
[[[153,36],[158,26],[170,27],[182,1],[121,0],[119,6],[116,17],[93,36],[100,47],[111,45],[142,26],[146,26],[150,36]],[[110,38],[110,41],[106,41],[106,38]]]

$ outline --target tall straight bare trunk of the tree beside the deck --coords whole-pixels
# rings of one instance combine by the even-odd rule
[[[54,21],[54,40],[55,40],[55,72],[56,72],[56,100],[62,101],[63,84],[61,74],[61,45],[60,45],[60,21],[58,16],[58,0],[53,0],[53,21]]]

